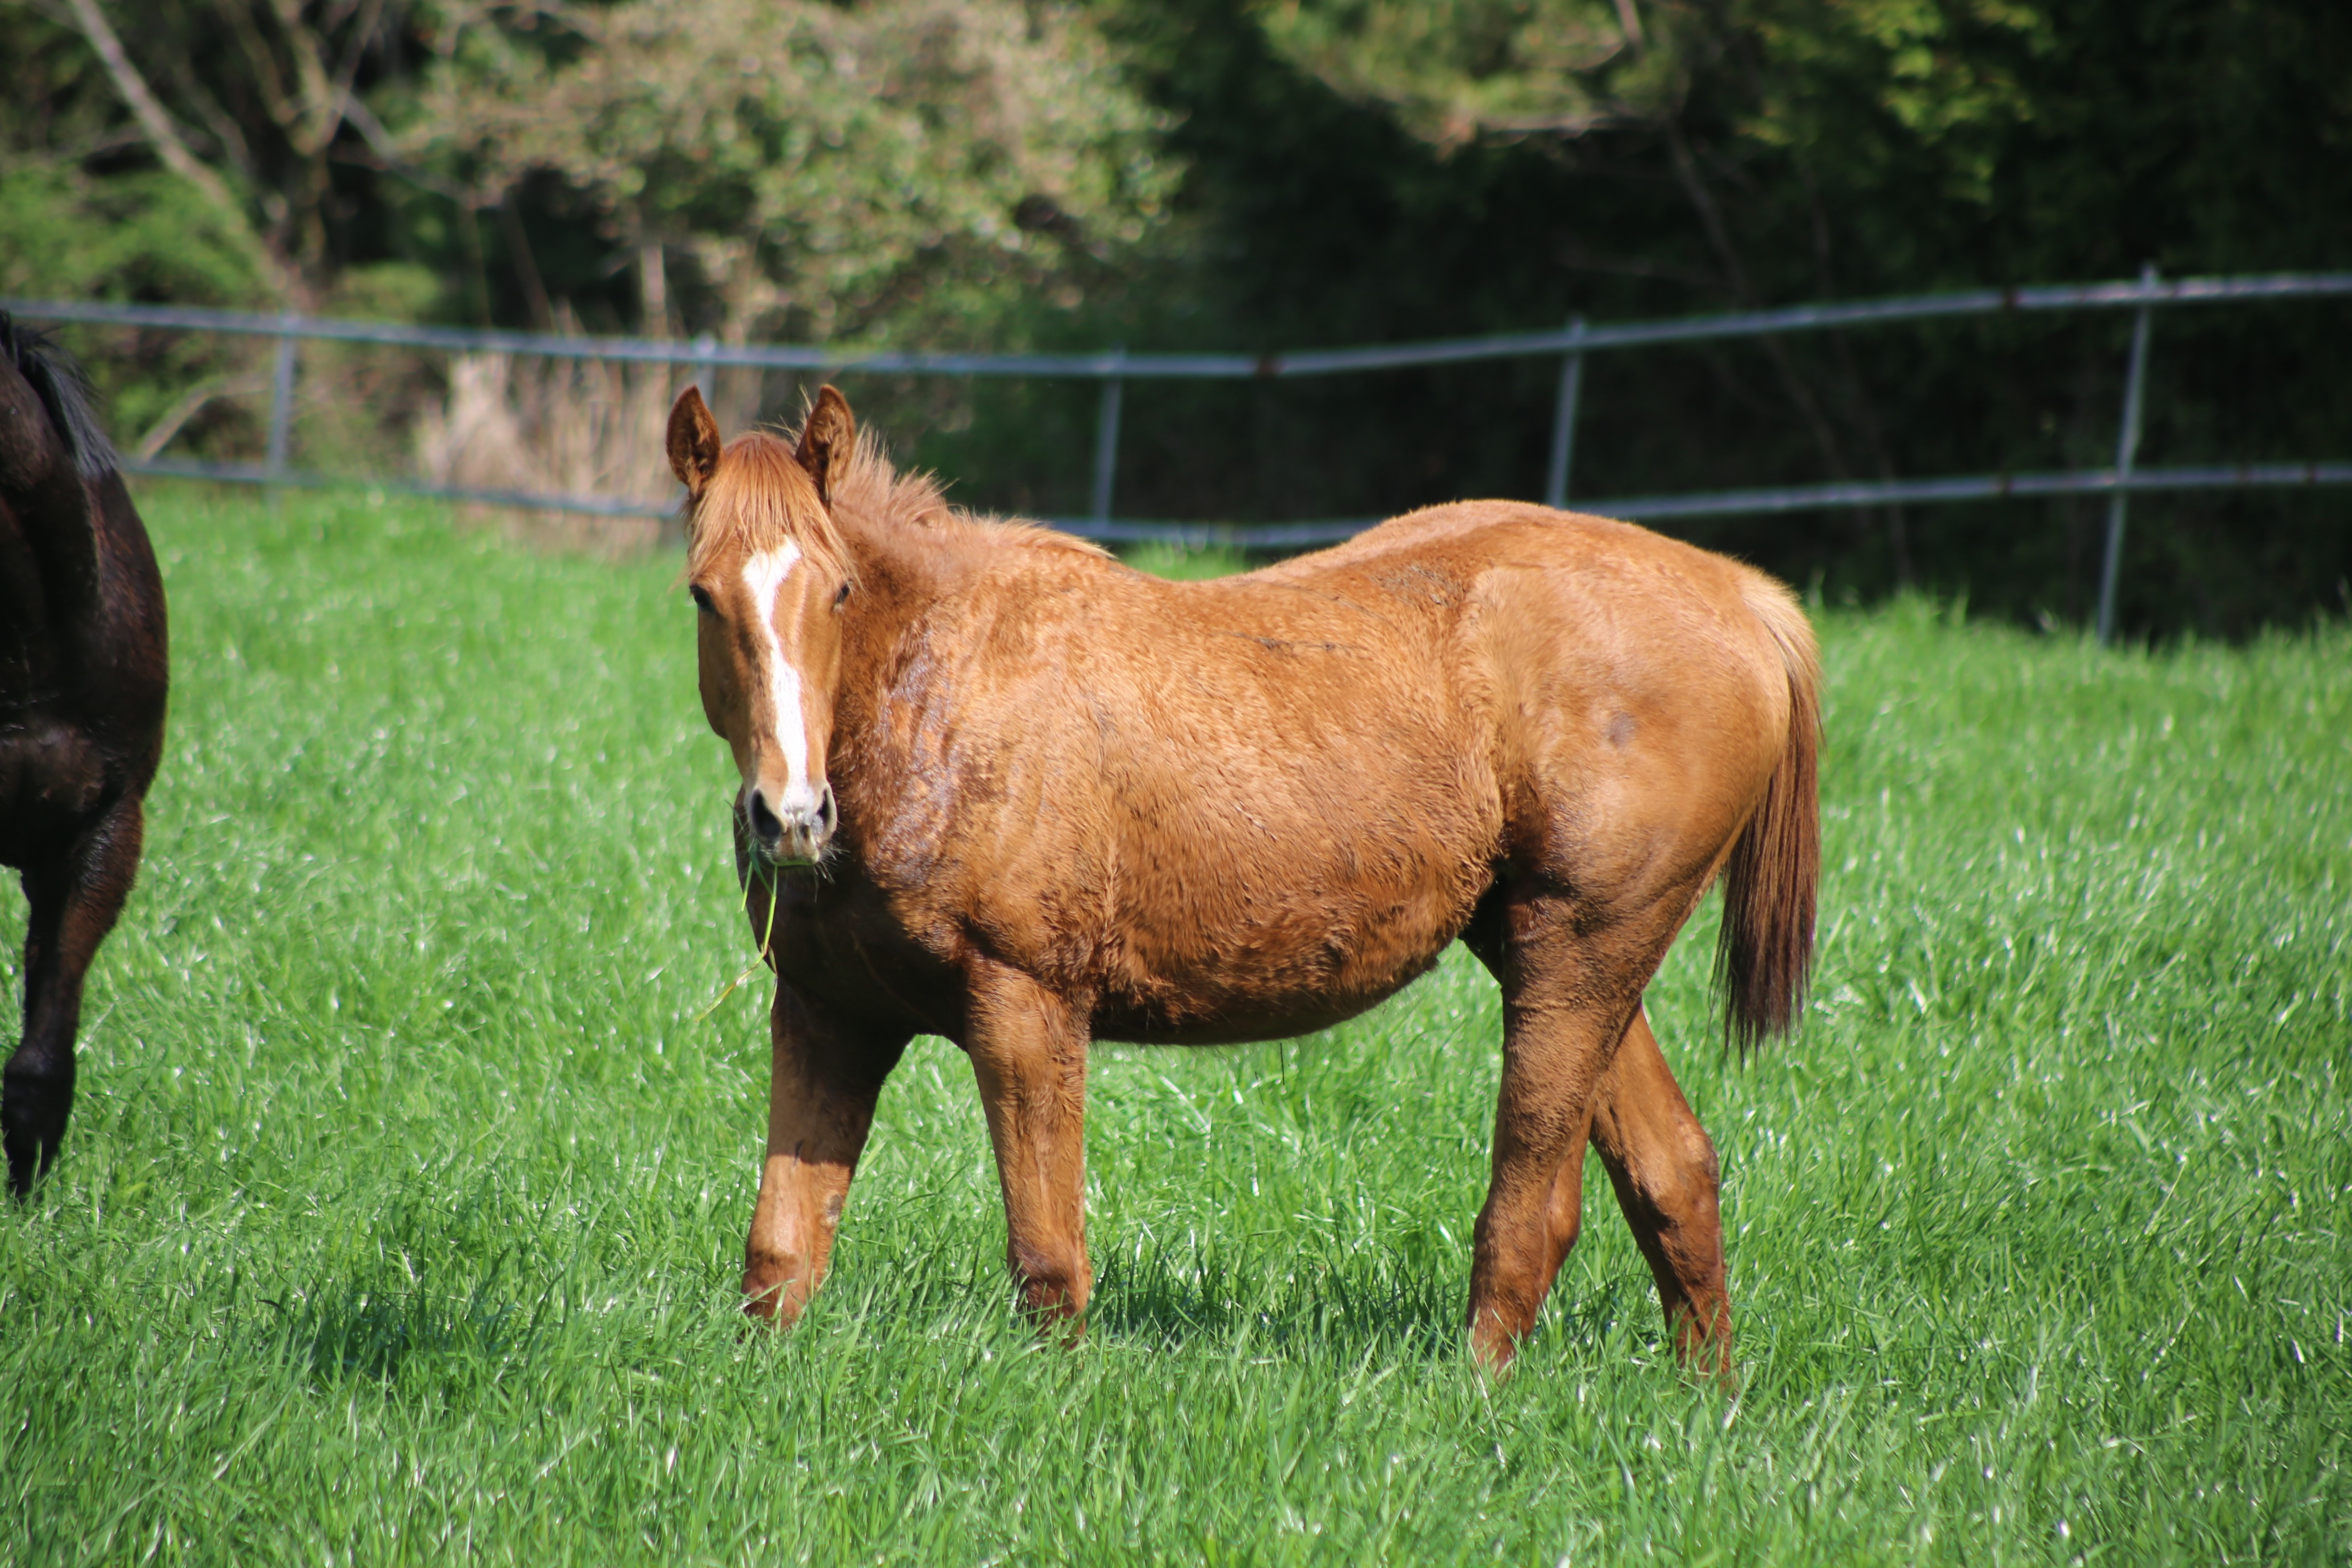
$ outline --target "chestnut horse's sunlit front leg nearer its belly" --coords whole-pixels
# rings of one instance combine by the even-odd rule
[[[1042,1319],[1087,1309],[1087,1011],[1025,973],[971,978],[964,1048],[1004,1185],[1004,1260]]]

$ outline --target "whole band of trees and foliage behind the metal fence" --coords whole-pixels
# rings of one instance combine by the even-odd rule
[[[103,5],[242,216],[160,172],[61,12],[12,7],[0,273],[26,282],[9,287],[724,339],[1279,350],[2145,261],[2352,268],[2340,0]],[[2098,315],[1595,357],[1571,494],[2098,465],[2126,341]],[[254,374],[230,350],[96,348],[141,433]],[[2340,458],[2347,353],[2340,303],[2166,313],[2140,458]],[[369,407],[341,425],[303,414],[374,430],[334,440],[341,454],[402,461],[452,381],[414,357],[350,364],[315,390],[365,388]],[[1534,496],[1555,388],[1550,362],[1134,386],[1120,512]],[[788,418],[802,393],[729,376],[722,404],[731,423]],[[1091,388],[851,393],[960,498],[1084,501]],[[240,407],[207,404],[176,440],[249,456]],[[2079,621],[2100,510],[1686,531],[1832,597],[1929,588]],[[2126,628],[2239,637],[2343,614],[2343,491],[2143,498]]]

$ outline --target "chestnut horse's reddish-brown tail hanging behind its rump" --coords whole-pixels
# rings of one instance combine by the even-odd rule
[[[1804,1011],[1820,884],[1820,651],[1804,609],[1778,583],[1757,576],[1748,609],[1788,672],[1788,741],[1724,863],[1715,983],[1726,1004],[1724,1037],[1743,1053],[1766,1034],[1785,1034]]]

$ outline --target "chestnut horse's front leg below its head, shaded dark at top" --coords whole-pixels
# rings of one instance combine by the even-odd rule
[[[743,1244],[743,1312],[793,1324],[826,1279],[882,1079],[908,1037],[844,1030],[783,980],[769,1034],[767,1164]]]

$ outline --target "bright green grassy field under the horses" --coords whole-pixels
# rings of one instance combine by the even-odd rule
[[[962,1056],[790,1335],[734,1286],[764,983],[675,564],[151,491],[172,741],[66,1159],[0,1213],[0,1559],[2352,1559],[2352,635],[1825,614],[1816,1001],[1715,1044],[1745,1392],[1595,1173],[1456,1326],[1494,985],[1096,1056],[1094,1331],[1014,1316]],[[0,943],[19,985],[21,900]]]

